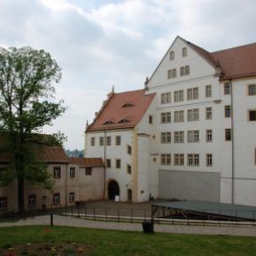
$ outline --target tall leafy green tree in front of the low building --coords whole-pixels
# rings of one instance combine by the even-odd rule
[[[0,48],[0,132],[10,165],[1,175],[3,185],[15,178],[19,212],[24,212],[25,180],[53,186],[47,166],[37,160],[41,145],[58,143],[57,136],[43,136],[44,125],[65,112],[63,101],[55,102],[54,83],[61,80],[61,68],[49,53],[31,47]]]

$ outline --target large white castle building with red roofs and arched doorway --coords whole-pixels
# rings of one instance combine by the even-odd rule
[[[256,44],[208,52],[177,37],[143,90],[110,93],[85,131],[104,195],[256,206]]]

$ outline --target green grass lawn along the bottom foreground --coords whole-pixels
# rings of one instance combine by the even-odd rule
[[[60,226],[6,227],[0,229],[0,255],[256,255],[256,239]]]

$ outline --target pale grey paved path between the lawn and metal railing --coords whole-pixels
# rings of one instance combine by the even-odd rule
[[[102,230],[128,230],[143,231],[142,224],[113,223],[85,220],[54,215],[54,224],[60,226],[72,226]],[[0,223],[0,227],[23,226],[23,225],[48,225],[49,215],[36,218],[21,219],[17,222]],[[172,224],[154,224],[155,232],[176,233],[176,234],[197,234],[197,235],[227,235],[227,236],[256,236],[256,227],[213,227],[213,226],[187,226]]]

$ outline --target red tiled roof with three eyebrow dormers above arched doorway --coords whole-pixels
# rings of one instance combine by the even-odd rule
[[[86,131],[134,128],[143,118],[154,96],[155,94],[145,95],[145,90],[113,93]]]

